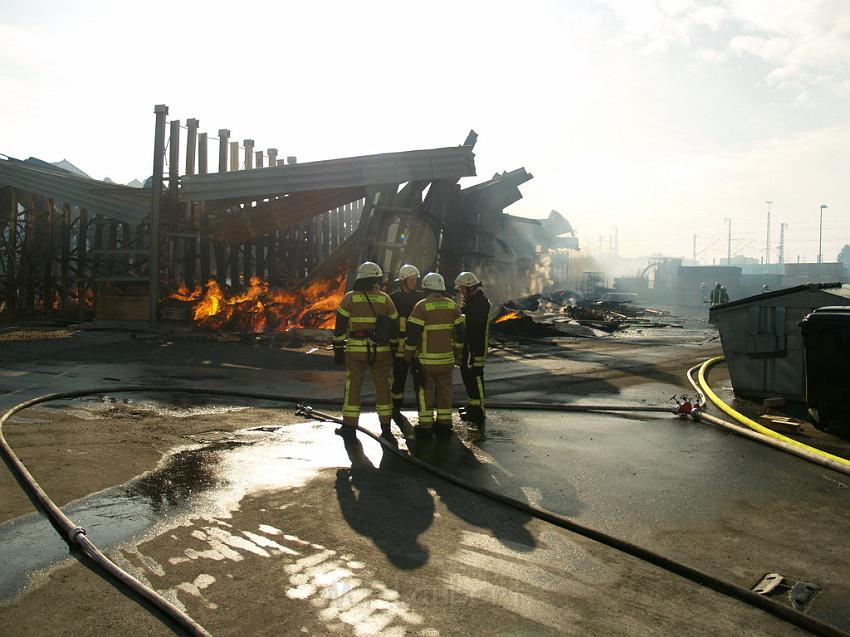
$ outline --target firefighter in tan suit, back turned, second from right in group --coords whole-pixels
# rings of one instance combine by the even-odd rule
[[[414,433],[428,438],[435,432],[452,431],[452,370],[460,363],[464,324],[457,304],[446,296],[446,283],[440,274],[426,274],[422,289],[427,296],[413,307],[407,319],[404,358],[412,362],[415,356],[422,369],[419,422]]]

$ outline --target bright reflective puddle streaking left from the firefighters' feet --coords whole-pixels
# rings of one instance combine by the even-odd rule
[[[380,462],[380,445],[363,442],[367,457]],[[331,425],[247,430],[234,440],[175,450],[156,469],[63,511],[101,549],[135,545],[192,518],[230,517],[249,493],[297,487],[318,471],[349,464]],[[67,558],[67,545],[38,513],[0,525],[0,600],[26,590],[28,578]]]

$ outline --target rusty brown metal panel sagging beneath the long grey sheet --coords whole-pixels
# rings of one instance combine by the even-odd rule
[[[210,234],[227,245],[244,243],[365,196],[364,188],[295,193],[211,221]]]

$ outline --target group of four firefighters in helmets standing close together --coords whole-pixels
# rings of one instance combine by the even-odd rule
[[[454,281],[458,305],[441,274],[421,278],[416,266],[398,273],[398,290],[381,290],[383,272],[371,261],[357,276],[336,311],[334,362],[345,365],[343,425],[337,433],[353,436],[360,417],[360,393],[368,373],[375,387],[375,410],[381,435],[394,439],[392,421],[406,424],[401,413],[407,377],[413,378],[419,420],[417,438],[452,431],[452,371],[460,367],[466,387],[464,420],[484,421],[484,363],[490,325],[490,301],[472,272]]]

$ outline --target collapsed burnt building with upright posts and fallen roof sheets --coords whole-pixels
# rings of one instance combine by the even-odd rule
[[[209,279],[294,287],[364,260],[447,277],[521,260],[505,240],[521,218],[503,209],[532,176],[519,169],[461,189],[475,175],[474,131],[456,147],[298,163],[226,129],[210,138],[197,119],[169,123],[166,106],[154,112],[153,176],[142,188],[33,158],[0,161],[6,311],[68,310],[117,293],[145,297],[134,318],[156,322],[161,299]]]

